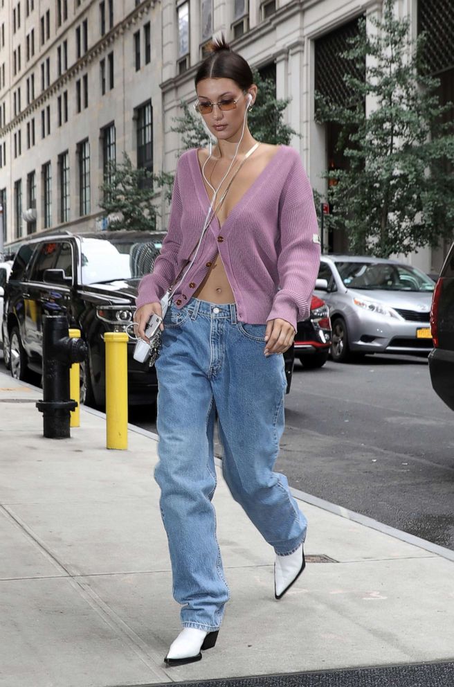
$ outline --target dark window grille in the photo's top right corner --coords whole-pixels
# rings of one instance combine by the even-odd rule
[[[426,32],[426,46],[421,57],[422,71],[439,74],[454,68],[454,3],[453,0],[419,0],[418,33]]]

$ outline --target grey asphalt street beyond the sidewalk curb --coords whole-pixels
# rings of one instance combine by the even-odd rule
[[[153,407],[129,421],[156,431]],[[303,492],[454,549],[453,429],[424,357],[314,371],[297,361],[276,469]]]

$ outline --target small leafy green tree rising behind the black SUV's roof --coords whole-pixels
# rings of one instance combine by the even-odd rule
[[[109,229],[154,231],[159,211],[153,203],[156,186],[168,187],[172,175],[152,175],[136,168],[126,152],[121,163],[109,162],[102,184],[100,207],[109,217]]]

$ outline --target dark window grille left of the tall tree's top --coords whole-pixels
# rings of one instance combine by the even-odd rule
[[[358,69],[352,60],[345,60],[341,53],[349,49],[347,39],[358,35],[358,19],[316,40],[315,90],[334,105],[345,105],[354,95],[343,81],[345,74],[365,79],[365,64]],[[316,107],[316,117],[317,117]]]

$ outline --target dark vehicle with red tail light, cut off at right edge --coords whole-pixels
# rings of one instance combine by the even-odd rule
[[[454,243],[433,292],[430,328],[434,345],[429,355],[432,386],[454,410]]]

